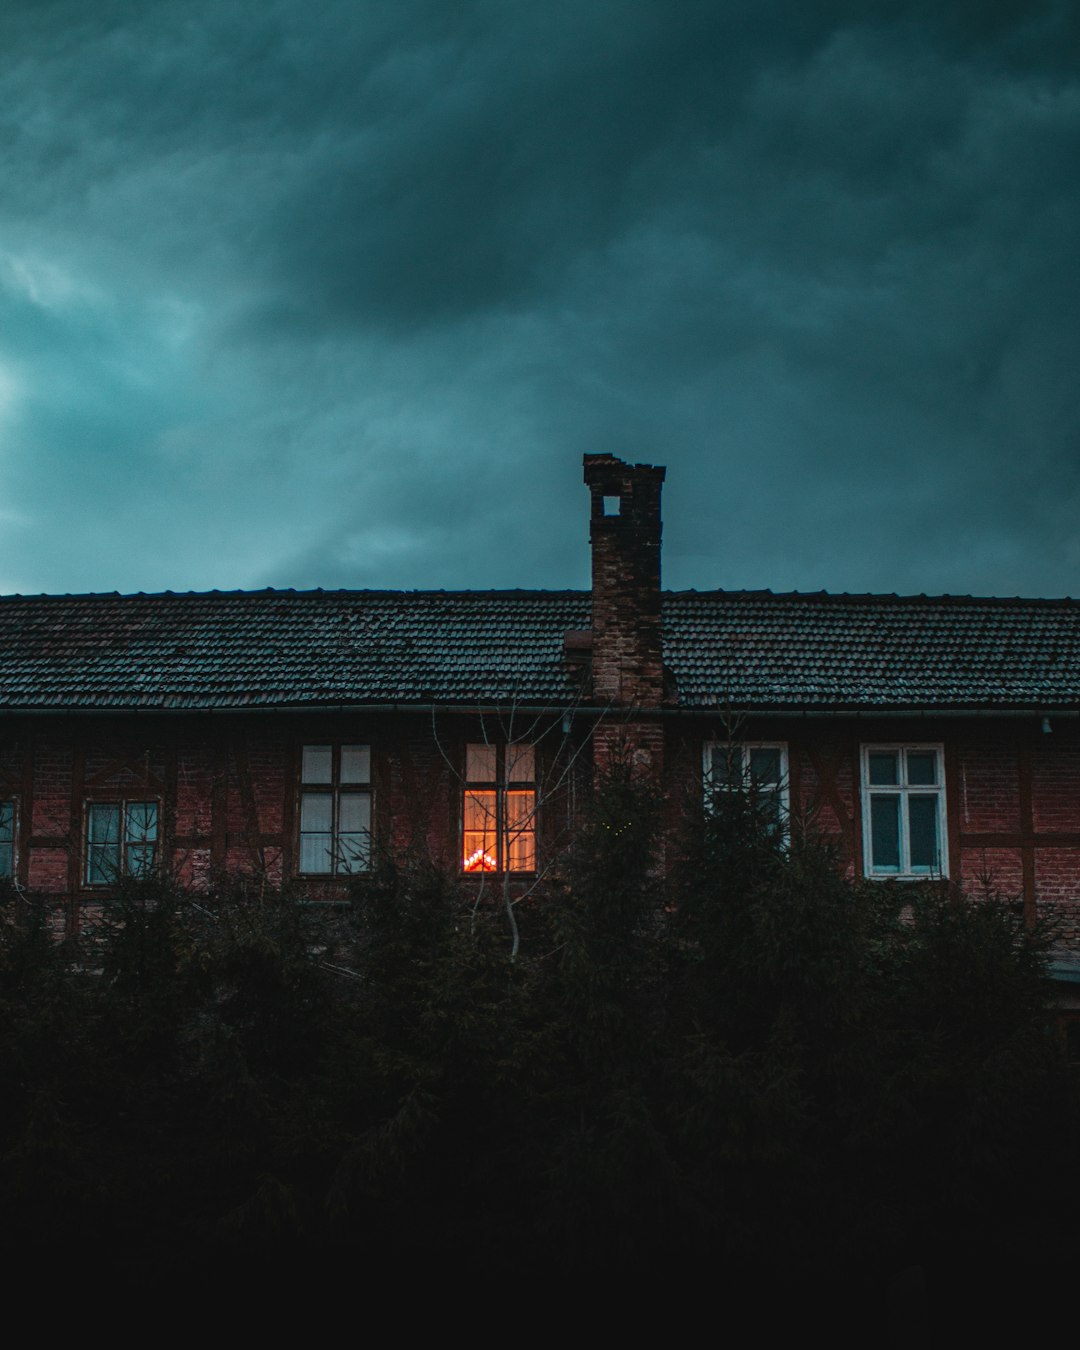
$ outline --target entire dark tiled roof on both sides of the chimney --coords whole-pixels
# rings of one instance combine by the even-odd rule
[[[1080,602],[666,593],[687,709],[1080,707]],[[587,591],[0,597],[0,709],[579,699]]]

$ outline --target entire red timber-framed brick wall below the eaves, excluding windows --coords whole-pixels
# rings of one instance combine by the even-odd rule
[[[88,801],[158,801],[163,856],[184,882],[205,883],[215,868],[278,880],[296,875],[301,747],[370,744],[379,844],[454,868],[464,745],[526,730],[541,744],[541,856],[558,856],[572,834],[594,756],[629,757],[662,779],[675,822],[680,794],[701,791],[703,744],[734,736],[787,745],[792,811],[834,837],[855,872],[860,745],[941,744],[950,876],[976,895],[1022,898],[1031,918],[1056,915],[1080,949],[1080,729],[1064,721],[1048,737],[1035,720],[757,718],[732,729],[639,709],[605,711],[595,732],[579,711],[568,736],[554,714],[528,728],[429,714],[23,718],[0,725],[0,794],[19,806],[19,879],[58,900],[100,899],[82,884]],[[335,894],[333,882],[312,884]]]

